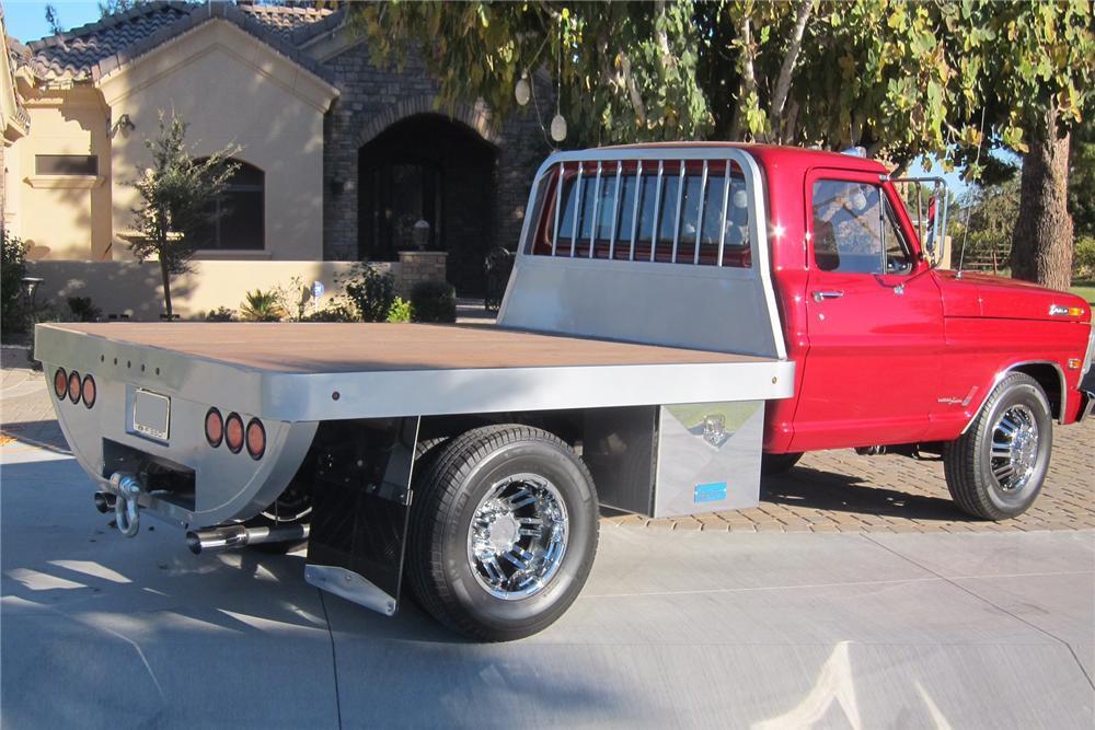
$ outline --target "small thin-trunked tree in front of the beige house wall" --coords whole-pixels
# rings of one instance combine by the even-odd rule
[[[145,147],[152,155],[152,166],[139,171],[140,177],[132,183],[141,204],[132,209],[138,235],[130,247],[140,262],[153,256],[159,259],[170,321],[171,277],[191,270],[191,257],[201,243],[198,233],[214,219],[212,204],[239,167],[229,159],[240,148],[231,146],[195,159],[186,147],[186,124],[174,114],[168,120],[162,112],[160,134],[145,140]]]

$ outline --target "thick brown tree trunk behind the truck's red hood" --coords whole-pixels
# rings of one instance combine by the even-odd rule
[[[1051,108],[1023,155],[1019,216],[1012,233],[1012,277],[1051,289],[1072,285],[1069,137],[1057,136]]]

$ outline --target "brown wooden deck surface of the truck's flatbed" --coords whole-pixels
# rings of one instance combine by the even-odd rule
[[[50,329],[286,373],[762,362],[764,358],[489,326],[96,323]]]

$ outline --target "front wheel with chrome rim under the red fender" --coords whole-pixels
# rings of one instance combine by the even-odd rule
[[[1034,378],[1005,376],[977,419],[943,454],[955,503],[986,520],[1025,512],[1041,491],[1053,447],[1049,399]]]

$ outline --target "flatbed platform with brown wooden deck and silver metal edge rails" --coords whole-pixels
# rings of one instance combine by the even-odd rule
[[[491,326],[50,324],[37,356],[70,370],[280,421],[758,401],[794,363]]]

